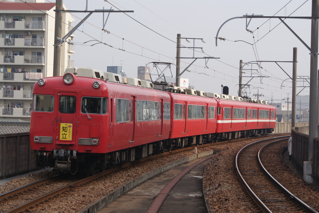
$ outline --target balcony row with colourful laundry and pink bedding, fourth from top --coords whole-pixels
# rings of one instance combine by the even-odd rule
[[[0,81],[4,82],[24,82],[24,81],[37,81],[43,78],[43,73],[0,73]]]

